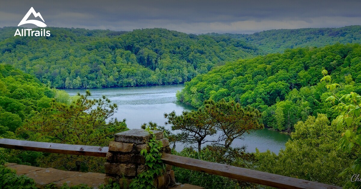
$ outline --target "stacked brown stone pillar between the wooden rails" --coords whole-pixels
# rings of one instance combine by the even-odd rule
[[[169,141],[164,138],[163,131],[153,131],[157,140],[161,140],[163,147],[161,153],[170,153]],[[114,135],[114,141],[109,143],[109,152],[106,154],[105,178],[119,181],[124,187],[131,183],[139,173],[145,171],[145,159],[140,155],[140,150],[147,148],[150,135],[143,129],[132,129]],[[165,173],[154,180],[157,188],[167,188],[175,183],[174,171],[166,165]]]

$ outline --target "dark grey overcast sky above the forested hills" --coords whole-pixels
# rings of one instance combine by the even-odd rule
[[[12,0],[0,4],[0,27],[17,26],[31,7],[47,26],[116,31],[254,33],[361,25],[361,0]]]

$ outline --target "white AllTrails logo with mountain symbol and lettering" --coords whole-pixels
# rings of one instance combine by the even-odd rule
[[[43,22],[38,21],[38,20],[28,20],[29,16],[33,14],[34,17],[40,17]],[[23,24],[34,24],[38,27],[46,27],[46,24],[44,23],[44,19],[42,17],[42,15],[40,13],[36,13],[34,8],[30,8],[29,11],[25,14],[25,17],[20,21],[20,23],[18,24],[18,26],[21,26]],[[15,35],[14,36],[36,36],[36,37],[42,37],[42,36],[50,36],[50,31],[46,31],[45,29],[41,29],[40,31],[33,31],[32,29],[21,29],[21,32],[19,29],[16,30]]]

